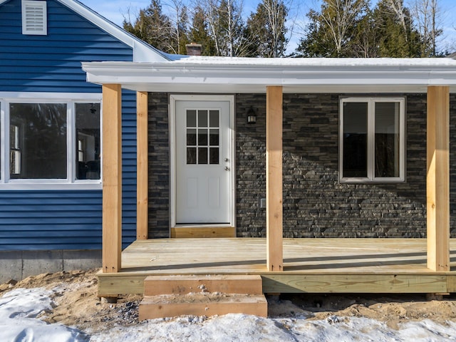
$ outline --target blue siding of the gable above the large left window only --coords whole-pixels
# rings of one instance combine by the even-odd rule
[[[0,6],[0,91],[87,93],[83,61],[133,61],[130,46],[48,0],[48,35],[22,34],[21,0]]]

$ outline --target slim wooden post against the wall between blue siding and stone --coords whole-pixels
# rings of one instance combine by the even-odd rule
[[[136,237],[147,239],[148,235],[148,166],[147,166],[147,92],[138,91],[136,93],[137,106],[137,172],[138,180],[136,183]]]

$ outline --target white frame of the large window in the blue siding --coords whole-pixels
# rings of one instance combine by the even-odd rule
[[[100,190],[100,180],[76,180],[76,103],[100,103],[100,144],[103,128],[101,93],[11,93],[0,92],[0,191],[1,190]],[[66,103],[67,105],[67,177],[66,179],[11,180],[9,178],[9,104],[10,103]],[[101,150],[103,147],[100,146]]]

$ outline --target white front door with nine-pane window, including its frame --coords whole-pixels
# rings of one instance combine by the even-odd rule
[[[231,224],[232,101],[175,95],[175,225]]]

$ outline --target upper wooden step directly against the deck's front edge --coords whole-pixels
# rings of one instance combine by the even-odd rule
[[[147,276],[144,281],[145,296],[203,290],[223,294],[263,294],[263,285],[258,275]]]

